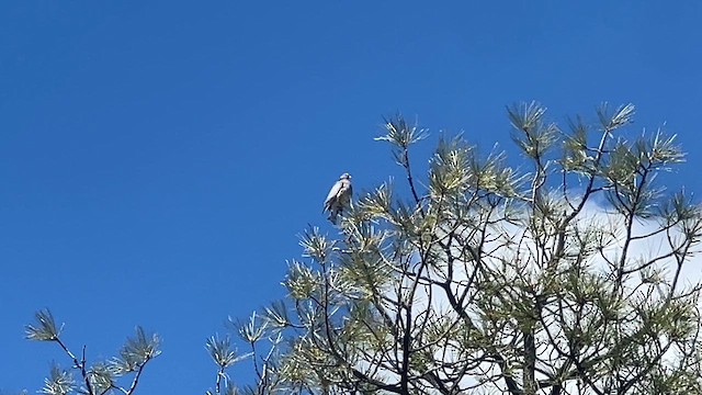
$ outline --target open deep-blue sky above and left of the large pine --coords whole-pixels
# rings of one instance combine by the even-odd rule
[[[36,309],[106,358],[136,325],[163,353],[137,393],[202,394],[204,343],[283,297],[339,174],[400,177],[373,142],[401,112],[512,153],[505,106],[552,121],[637,106],[702,191],[702,2],[0,2],[0,390],[43,385]],[[241,351],[246,351],[241,349]],[[248,366],[248,365],[247,365]],[[246,366],[245,366],[246,368]],[[248,373],[247,373],[248,372]],[[239,383],[250,370],[236,370]]]

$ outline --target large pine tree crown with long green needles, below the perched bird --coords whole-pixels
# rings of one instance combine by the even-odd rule
[[[702,213],[658,183],[684,159],[675,136],[626,139],[633,115],[602,105],[564,132],[514,105],[528,171],[457,136],[426,178],[427,131],[386,120],[411,195],[382,184],[338,236],[301,237],[287,300],[238,325],[258,377],[242,393],[702,393],[700,285],[681,281]]]

